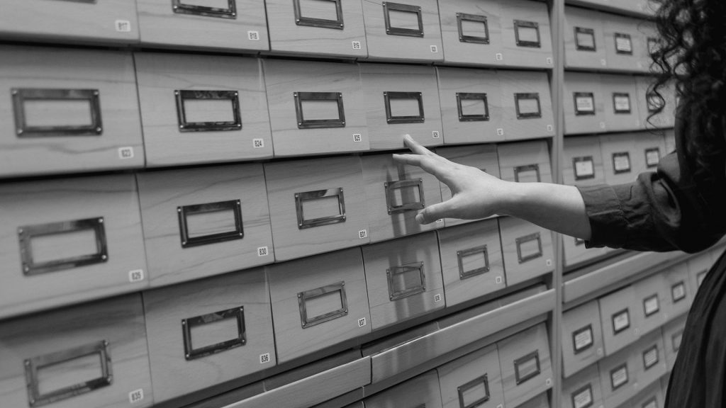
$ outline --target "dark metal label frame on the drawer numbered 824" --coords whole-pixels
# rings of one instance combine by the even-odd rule
[[[238,131],[242,129],[240,117],[240,96],[237,91],[192,91],[176,90],[176,118],[179,131]],[[187,106],[190,100],[229,100],[232,106],[232,121],[190,122],[187,119]]]

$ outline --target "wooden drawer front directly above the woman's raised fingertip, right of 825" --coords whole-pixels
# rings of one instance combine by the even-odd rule
[[[425,146],[444,143],[433,67],[361,64],[360,68],[371,150],[401,149],[404,134]]]

